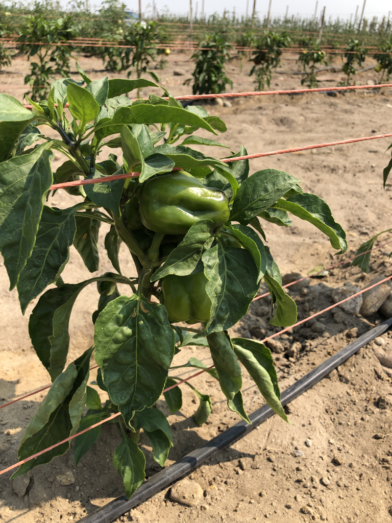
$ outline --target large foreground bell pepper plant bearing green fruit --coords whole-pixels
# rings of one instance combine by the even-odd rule
[[[199,135],[226,131],[225,123],[203,107],[183,108],[165,89],[167,98],[151,94],[131,100],[123,95],[159,86],[145,79],[91,81],[78,70],[80,82],[56,80],[47,100],[30,100],[32,110],[0,94],[0,250],[21,312],[39,297],[29,334],[52,380],[22,436],[18,458],[120,412],[116,423],[122,442],[113,449],[113,464],[131,496],[145,477],[140,431],[162,466],[172,446],[169,422],[156,402],[179,381],[169,370],[179,368],[173,358],[186,346],[210,349],[214,368],[206,371],[208,378],[218,382],[228,408],[239,417],[249,423],[241,393],[243,368],[274,412],[286,419],[270,350],[256,339],[227,333],[246,314],[262,280],[271,294],[270,323],[296,321],[295,302],[282,289],[261,220],[290,226],[294,215],[325,233],[339,253],[347,243],[327,203],[303,192],[294,176],[276,169],[251,172],[247,160],[224,162],[194,149],[227,147]],[[121,147],[122,157],[109,154],[101,160],[108,147]],[[54,153],[64,160],[55,172]],[[246,154],[241,146],[227,158]],[[139,175],[108,178],[131,172]],[[75,196],[71,207],[64,198],[59,208],[51,206],[53,183],[94,178],[100,183],[65,189]],[[110,229],[105,251],[99,252],[102,223]],[[122,244],[134,262],[133,274],[121,267]],[[95,273],[77,283],[62,278],[72,245],[86,270]],[[102,256],[111,261],[112,271],[96,272]],[[120,283],[128,292],[120,294]],[[69,362],[72,308],[90,285],[98,291],[94,343]],[[93,356],[99,366],[95,383],[89,382]],[[205,365],[190,358],[180,367]],[[97,386],[106,394],[103,404]],[[189,386],[199,399],[195,422],[202,424],[211,399]],[[181,409],[178,387],[165,392],[164,399],[170,412]],[[76,437],[75,464],[99,433],[97,427]],[[12,477],[68,448],[69,441],[27,461]]]

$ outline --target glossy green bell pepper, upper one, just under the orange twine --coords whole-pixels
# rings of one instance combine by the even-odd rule
[[[223,225],[229,215],[226,195],[184,170],[150,178],[140,197],[142,222],[158,233],[186,234],[191,225],[205,218]]]

